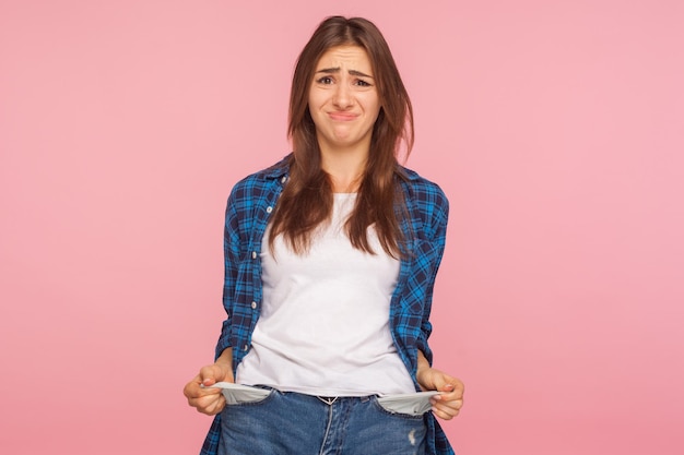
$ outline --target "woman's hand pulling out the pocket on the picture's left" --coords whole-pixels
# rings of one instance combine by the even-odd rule
[[[215,416],[225,407],[225,398],[221,388],[210,386],[217,382],[235,382],[228,360],[231,356],[226,355],[226,351],[214,364],[202,367],[200,373],[192,378],[182,390],[182,394],[188,398],[188,404],[197,408],[198,412]],[[224,357],[224,355],[226,356]]]

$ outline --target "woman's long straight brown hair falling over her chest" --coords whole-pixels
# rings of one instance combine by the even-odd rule
[[[290,95],[288,135],[293,154],[290,178],[278,201],[269,244],[283,235],[293,250],[308,251],[314,230],[330,219],[333,204],[329,175],[321,168],[316,125],[308,106],[308,95],[320,57],[337,46],[359,46],[373,65],[380,111],[373,128],[370,153],[366,163],[356,205],[345,229],[354,248],[374,254],[367,229],[375,225],[385,252],[399,258],[403,236],[397,207],[403,206],[399,187],[402,178],[398,163],[401,143],[406,155],[413,146],[413,109],[394,59],[380,31],[362,17],[326,19],[306,44],[295,67]]]

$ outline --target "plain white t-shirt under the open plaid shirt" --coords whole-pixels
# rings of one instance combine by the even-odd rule
[[[344,221],[356,194],[335,193],[331,223],[317,231],[307,254],[268,232],[261,253],[263,302],[251,349],[236,382],[319,396],[413,393],[413,381],[389,328],[399,261],[354,249]]]

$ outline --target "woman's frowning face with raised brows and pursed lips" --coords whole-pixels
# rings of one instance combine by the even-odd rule
[[[338,46],[320,57],[309,89],[309,112],[321,152],[368,153],[380,99],[364,48]]]

